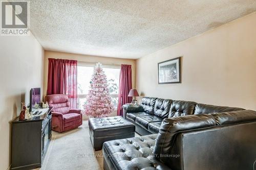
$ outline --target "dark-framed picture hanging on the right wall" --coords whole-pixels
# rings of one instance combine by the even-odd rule
[[[158,63],[158,84],[181,83],[181,57]]]

